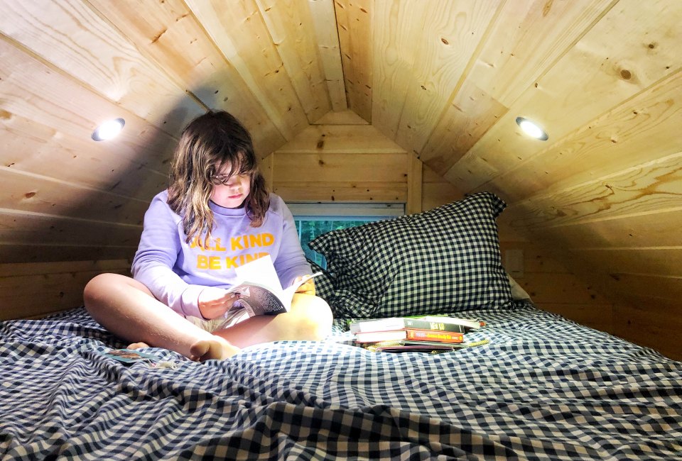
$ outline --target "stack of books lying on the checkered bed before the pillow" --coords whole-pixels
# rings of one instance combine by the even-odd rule
[[[487,343],[465,339],[466,333],[482,326],[485,322],[466,318],[391,317],[354,321],[350,332],[357,345],[375,352],[448,352]]]

